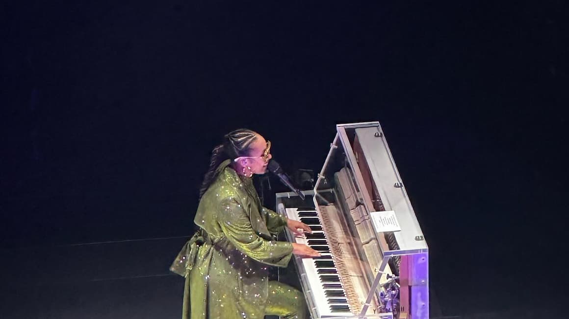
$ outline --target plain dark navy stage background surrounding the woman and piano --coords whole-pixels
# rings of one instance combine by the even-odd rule
[[[436,315],[560,313],[567,12],[3,2],[0,317],[178,318],[168,267],[222,135],[254,129],[286,171],[319,171],[335,124],[374,120],[430,246]]]

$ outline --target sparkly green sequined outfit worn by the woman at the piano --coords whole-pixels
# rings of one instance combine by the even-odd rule
[[[225,161],[197,208],[200,226],[171,270],[185,276],[183,319],[307,318],[298,290],[269,281],[267,266],[286,267],[289,242],[275,241],[286,217],[261,205],[250,178]]]

